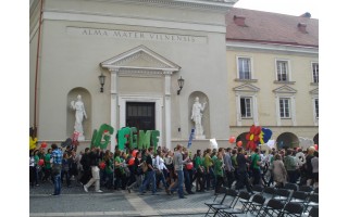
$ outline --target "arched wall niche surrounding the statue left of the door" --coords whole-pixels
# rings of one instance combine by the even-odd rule
[[[77,100],[77,95],[80,94],[82,101],[85,105],[87,119],[84,117],[83,128],[85,140],[91,139],[91,97],[87,89],[78,87],[72,89],[66,95],[66,137],[70,138],[74,133],[75,125],[75,111],[71,107],[71,102]]]

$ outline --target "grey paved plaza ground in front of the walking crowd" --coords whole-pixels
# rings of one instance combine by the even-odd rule
[[[102,189],[95,193],[94,187],[86,193],[82,186],[62,188],[59,196],[50,195],[53,184],[44,183],[30,188],[30,216],[203,216],[207,212],[204,201],[209,201],[213,191],[186,195],[167,195],[164,190],[158,195],[148,191],[145,195],[126,190]]]

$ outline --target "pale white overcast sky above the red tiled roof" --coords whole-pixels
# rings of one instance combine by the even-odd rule
[[[275,12],[288,15],[301,15],[309,12],[312,18],[319,18],[319,0],[239,0],[235,8]]]

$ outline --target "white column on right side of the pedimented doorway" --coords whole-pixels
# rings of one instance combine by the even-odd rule
[[[171,118],[171,77],[172,72],[164,74],[164,110],[165,110],[165,146],[171,150],[172,143],[172,118]]]

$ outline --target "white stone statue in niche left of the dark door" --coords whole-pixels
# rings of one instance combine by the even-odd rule
[[[74,129],[76,132],[78,132],[78,141],[84,141],[85,136],[84,136],[84,127],[83,127],[83,122],[84,117],[87,119],[87,114],[85,111],[85,105],[84,102],[82,101],[80,94],[77,95],[77,101],[72,101],[71,102],[71,108],[75,110],[75,126]]]

